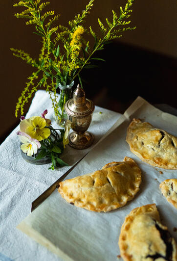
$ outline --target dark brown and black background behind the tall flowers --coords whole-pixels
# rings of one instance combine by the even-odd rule
[[[33,69],[12,55],[10,47],[38,57],[41,40],[14,13],[15,0],[0,1],[0,141],[19,123],[15,106]],[[50,0],[48,10],[61,14],[59,24],[66,25],[81,13],[88,0]],[[86,26],[98,32],[97,18],[111,20],[112,9],[126,0],[95,0]],[[96,56],[106,59],[98,69],[85,70],[86,96],[95,105],[123,113],[138,96],[152,104],[166,103],[177,107],[177,2],[176,0],[135,0],[130,18],[134,31],[126,32]],[[46,10],[46,9],[45,9]],[[25,112],[30,102],[25,106]]]

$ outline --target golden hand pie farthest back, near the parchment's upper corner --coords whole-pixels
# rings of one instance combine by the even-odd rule
[[[177,137],[133,119],[127,130],[130,150],[141,160],[164,169],[177,169]]]

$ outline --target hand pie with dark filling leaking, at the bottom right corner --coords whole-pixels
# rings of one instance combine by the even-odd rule
[[[160,223],[155,204],[133,209],[119,236],[124,261],[177,261],[177,244]]]

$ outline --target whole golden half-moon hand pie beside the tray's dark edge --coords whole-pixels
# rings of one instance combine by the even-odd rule
[[[130,157],[59,183],[58,192],[77,207],[107,212],[124,206],[139,190],[141,170]]]

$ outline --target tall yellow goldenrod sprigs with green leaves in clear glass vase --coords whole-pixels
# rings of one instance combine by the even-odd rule
[[[54,11],[44,12],[44,8],[50,3],[43,0],[20,0],[14,4],[15,7],[24,7],[21,13],[16,13],[17,18],[24,18],[26,25],[34,25],[38,36],[42,37],[42,49],[38,58],[32,58],[27,52],[11,48],[13,54],[22,58],[35,71],[28,77],[26,87],[22,91],[16,106],[16,117],[19,109],[23,114],[23,106],[31,98],[32,94],[41,86],[49,93],[53,108],[59,123],[65,115],[64,105],[69,97],[67,87],[72,87],[76,77],[79,78],[82,87],[80,73],[83,69],[97,67],[94,60],[103,60],[93,57],[97,51],[103,50],[104,45],[111,40],[122,37],[122,33],[133,30],[135,27],[128,27],[131,21],[128,20],[132,12],[133,0],[127,0],[125,8],[120,7],[119,15],[112,10],[112,21],[106,18],[105,25],[98,18],[101,29],[101,36],[95,33],[91,26],[83,26],[88,16],[93,1],[90,0],[82,14],[77,14],[68,26],[53,25],[60,18]],[[91,46],[87,36],[93,37],[94,45]],[[104,60],[103,60],[104,61]],[[58,102],[56,89],[60,89],[61,99]]]

